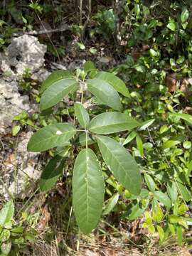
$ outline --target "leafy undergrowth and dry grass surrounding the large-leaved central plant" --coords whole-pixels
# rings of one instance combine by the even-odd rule
[[[2,198],[2,207],[9,205],[11,211],[6,220],[1,219],[4,210],[0,212],[2,255],[9,248],[12,255],[38,255],[37,250],[40,255],[50,255],[50,250],[55,255],[86,255],[78,251],[87,247],[101,255],[106,248],[106,255],[111,255],[110,250],[127,255],[130,247],[142,255],[160,255],[166,250],[176,252],[178,245],[190,245],[191,9],[190,0],[1,3],[1,51],[13,35],[53,29],[52,33],[36,34],[48,46],[46,68],[50,70],[54,62],[73,72],[82,70],[83,60],[92,60],[98,69],[124,80],[130,94],[121,95],[124,113],[144,123],[114,137],[139,164],[139,196],[119,185],[102,165],[107,191],[102,221],[92,235],[82,235],[72,208],[74,151],[65,175],[48,193],[40,192],[37,183],[33,195],[23,201],[12,198],[6,203]],[[31,79],[30,70],[20,86],[31,101],[39,102],[41,85]],[[33,87],[38,89],[35,94]],[[14,118],[12,139],[19,132],[35,131],[60,120],[68,122],[74,116],[71,100],[73,97],[45,115],[19,114]],[[97,106],[90,114],[101,112],[103,107]],[[50,156],[53,151],[45,154],[46,159]]]

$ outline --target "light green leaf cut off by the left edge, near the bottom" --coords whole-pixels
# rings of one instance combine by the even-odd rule
[[[12,200],[6,202],[0,210],[0,225],[9,223],[14,216],[14,203]]]

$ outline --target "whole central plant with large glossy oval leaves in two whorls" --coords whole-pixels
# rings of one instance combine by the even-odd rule
[[[118,92],[129,97],[122,80],[112,73],[97,72],[90,61],[85,63],[84,70],[78,69],[76,75],[67,70],[53,72],[41,87],[40,109],[44,112],[70,95],[76,98],[74,113],[77,120],[74,119],[73,124],[49,124],[33,134],[28,142],[28,151],[56,148],[55,156],[41,176],[40,188],[43,191],[52,188],[62,174],[66,156],[73,159],[74,152],[78,152],[73,169],[73,206],[78,226],[85,234],[96,227],[102,214],[105,181],[98,160],[100,153],[107,168],[124,188],[134,195],[141,191],[142,178],[137,162],[124,146],[106,136],[140,126],[129,114],[122,113]],[[90,120],[85,95],[94,95],[96,102],[110,109]]]

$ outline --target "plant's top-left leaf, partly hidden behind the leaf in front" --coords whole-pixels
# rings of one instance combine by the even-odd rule
[[[48,76],[48,78],[46,78],[46,80],[43,81],[40,92],[44,92],[48,87],[50,87],[50,85],[53,85],[53,83],[58,80],[71,77],[72,74],[68,70],[55,70]]]

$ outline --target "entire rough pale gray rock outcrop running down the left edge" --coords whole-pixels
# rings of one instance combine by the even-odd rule
[[[23,110],[28,114],[37,112],[38,105],[29,102],[28,95],[19,93],[18,79],[26,68],[32,78],[44,80],[50,73],[43,69],[46,46],[34,36],[13,38],[6,53],[0,53],[0,197],[25,198],[30,196],[41,175],[38,154],[27,151],[32,132],[19,132],[17,137],[8,137],[13,117]],[[9,136],[9,135],[8,135]]]

